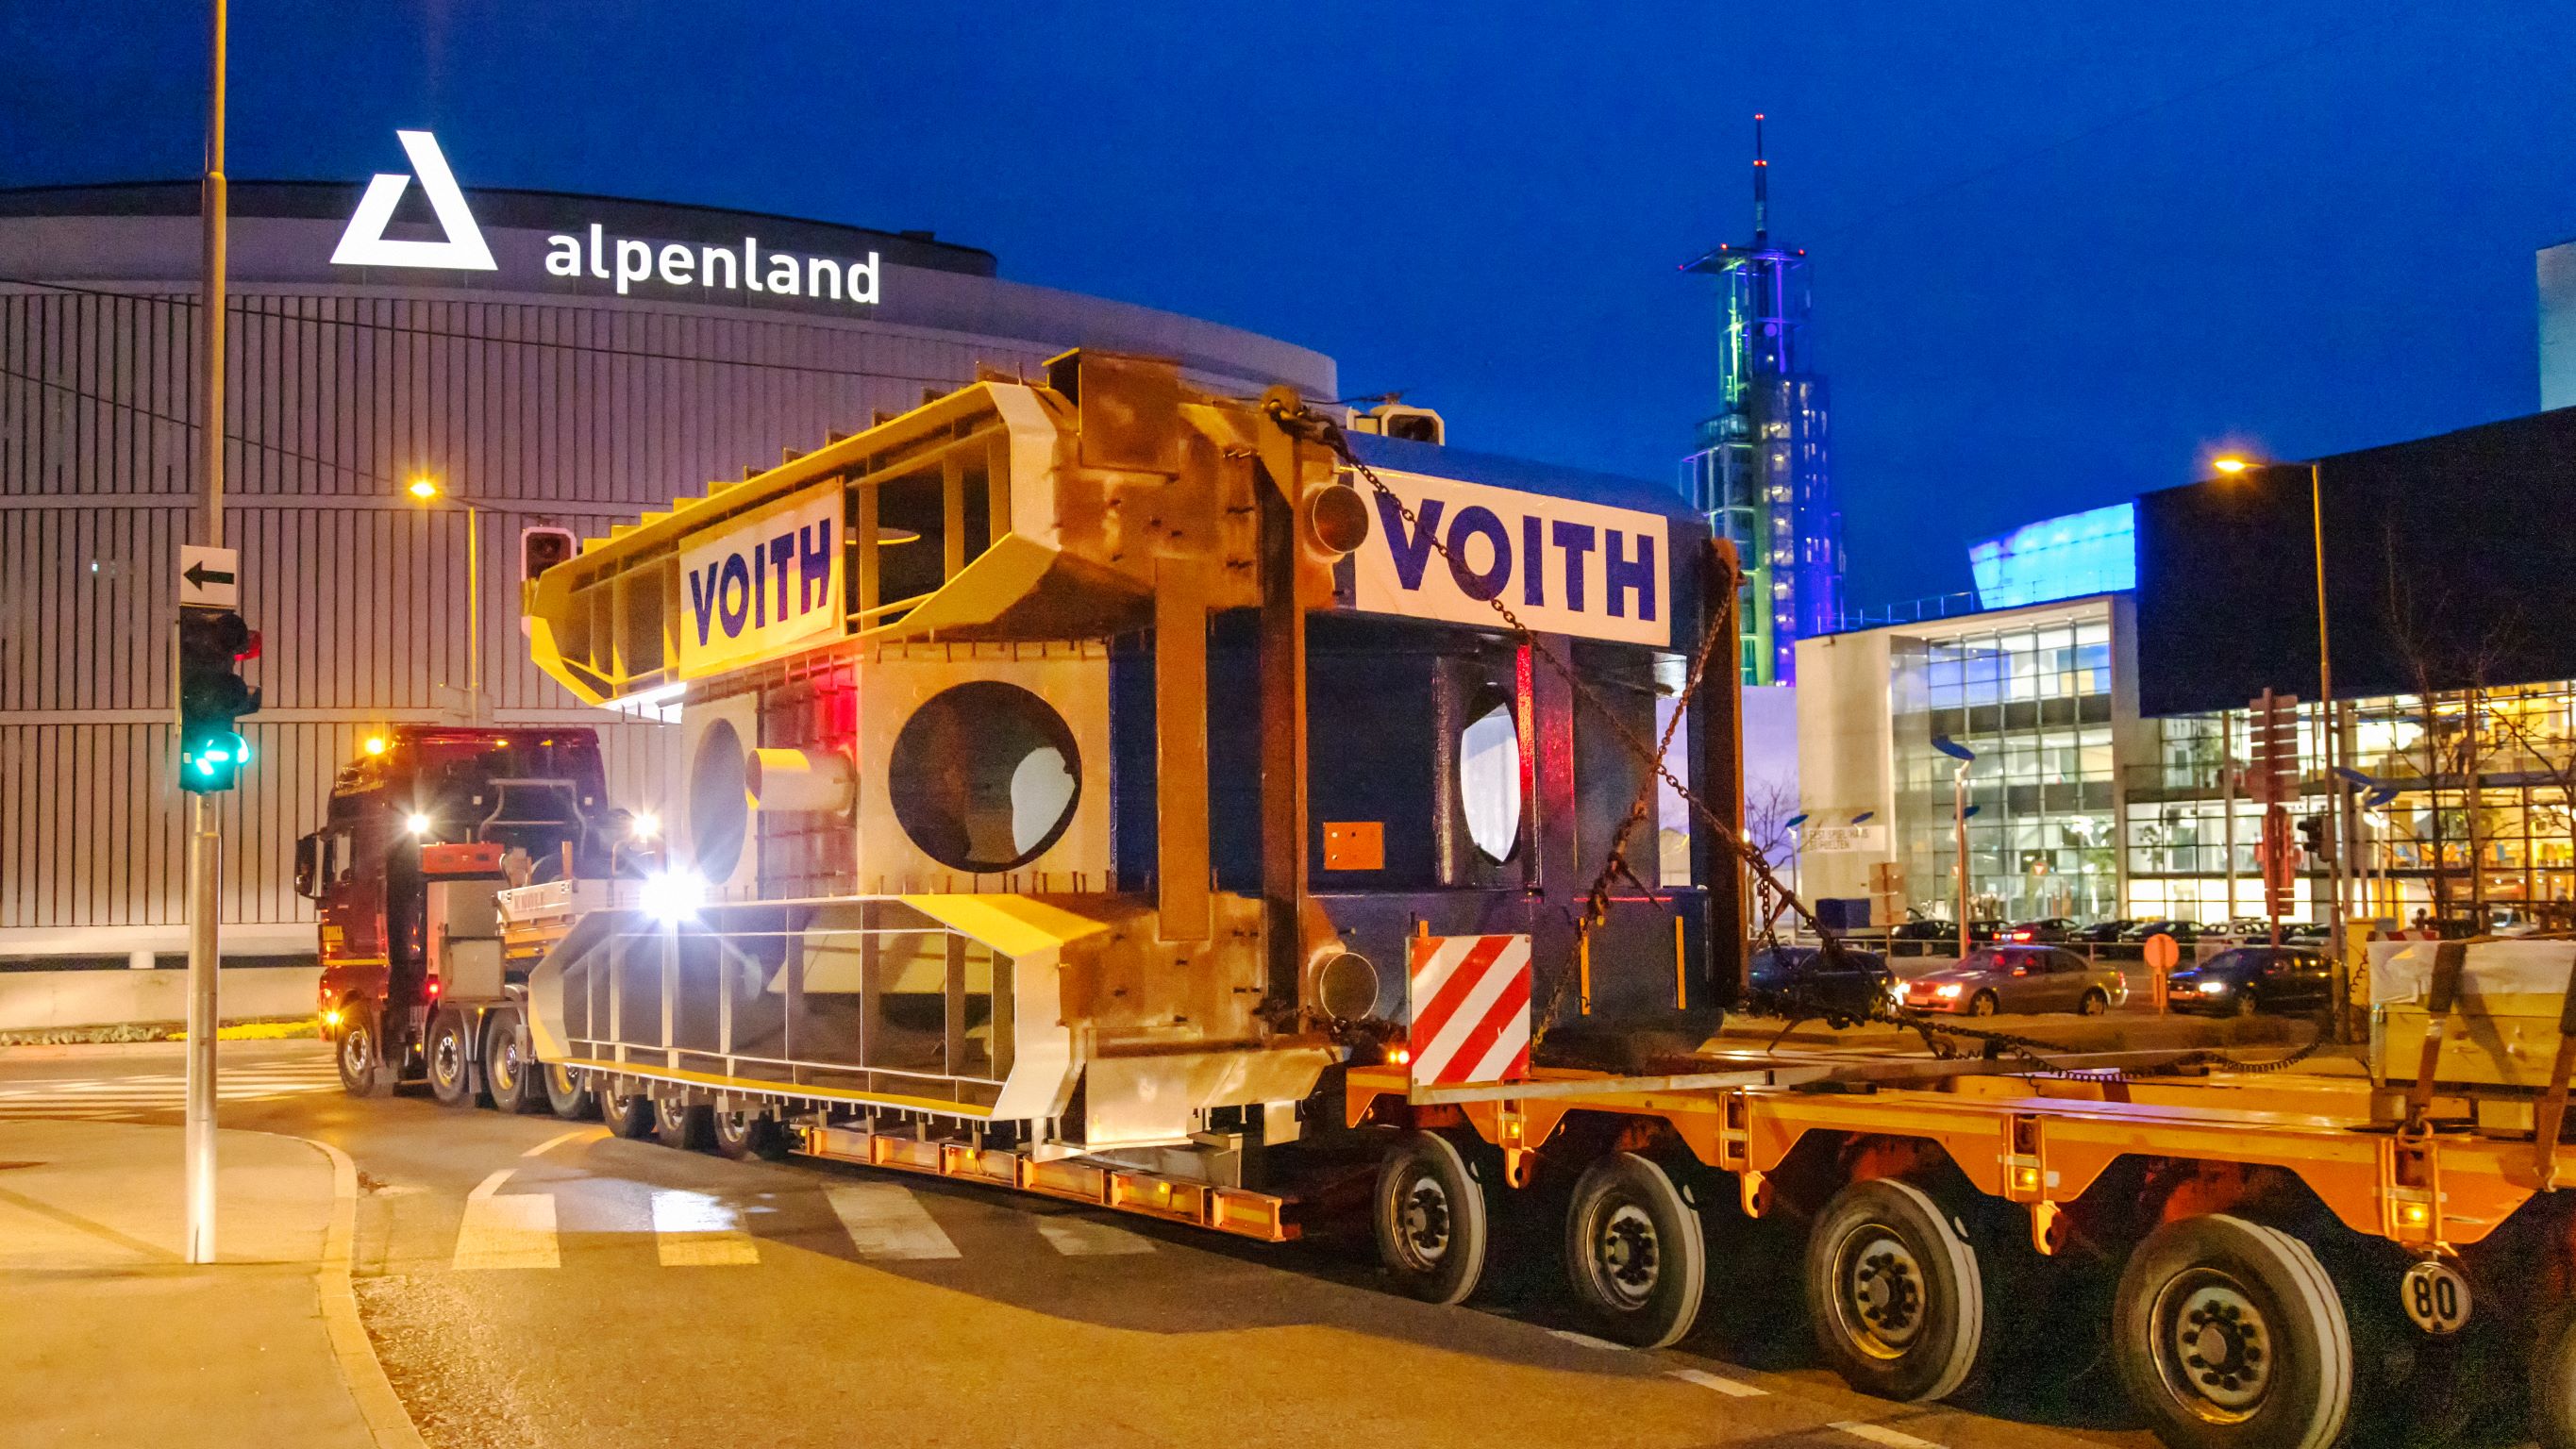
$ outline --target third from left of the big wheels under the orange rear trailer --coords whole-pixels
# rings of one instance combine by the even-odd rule
[[[1826,1364],[1860,1392],[1929,1403],[1978,1369],[1986,1282],[1924,1189],[1855,1181],[1806,1238],[1806,1313]]]

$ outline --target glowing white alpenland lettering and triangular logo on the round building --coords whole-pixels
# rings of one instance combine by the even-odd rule
[[[438,136],[428,131],[394,131],[402,152],[412,157],[420,190],[438,216],[440,242],[397,242],[384,234],[394,221],[410,175],[379,172],[358,198],[358,211],[332,250],[332,265],[343,268],[435,268],[456,273],[492,273],[492,247],[484,245],[466,193],[448,170],[448,157],[438,149]],[[546,275],[595,278],[613,283],[618,296],[629,296],[634,283],[688,286],[701,291],[757,291],[770,296],[811,296],[876,306],[878,260],[835,263],[832,257],[796,257],[788,252],[762,252],[757,237],[744,237],[742,247],[693,247],[688,242],[639,242],[634,237],[605,237],[598,221],[590,224],[587,250],[582,237],[546,237]]]

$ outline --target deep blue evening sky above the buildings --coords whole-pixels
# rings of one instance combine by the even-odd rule
[[[0,5],[0,185],[193,172],[188,10]],[[1662,481],[1716,376],[1674,263],[1747,232],[1759,108],[1850,595],[1886,602],[2213,438],[2537,407],[2571,54],[2576,8],[2509,0],[234,0],[232,172],[358,180],[430,126],[466,185],[933,226],[1332,353],[1453,443]]]

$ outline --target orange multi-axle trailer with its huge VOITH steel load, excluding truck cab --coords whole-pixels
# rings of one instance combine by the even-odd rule
[[[1605,1336],[1803,1315],[1899,1400],[2040,1333],[2174,1446],[2576,1444],[2576,1014],[2486,947],[2385,963],[2370,1078],[1880,1001],[1801,1009],[1947,1050],[1718,1045],[1783,901],[1736,579],[1610,479],[989,376],[528,584],[551,677],[680,718],[649,878],[497,893],[528,1048],[621,1135],[1265,1241],[1358,1161],[1412,1295],[1551,1253]]]

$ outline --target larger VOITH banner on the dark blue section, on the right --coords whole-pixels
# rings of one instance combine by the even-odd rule
[[[1662,515],[1391,468],[1378,476],[1414,522],[1363,486],[1378,515],[1355,564],[1363,610],[1502,628],[1486,602],[1499,597],[1540,633],[1672,646]]]

